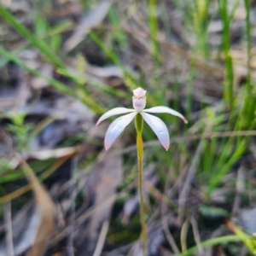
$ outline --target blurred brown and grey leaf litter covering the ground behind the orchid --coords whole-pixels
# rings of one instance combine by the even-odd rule
[[[188,247],[214,236],[237,233],[233,223],[255,233],[255,159],[242,154],[227,172],[224,170],[220,186],[207,198],[206,183],[213,179],[209,173],[219,159],[218,152],[214,153],[213,160],[207,159],[207,154],[210,155],[213,143],[219,143],[218,151],[224,148],[224,144],[220,143],[220,138],[211,136],[199,143],[189,140],[197,134],[203,135],[207,125],[201,116],[212,125],[210,133],[219,132],[219,137],[228,122],[229,109],[222,101],[224,54],[219,51],[224,27],[218,15],[217,1],[213,1],[208,9],[207,44],[210,51],[206,53],[206,60],[200,47],[195,47],[195,52],[189,50],[201,42],[201,38],[191,33],[193,22],[188,22],[192,18],[186,15],[184,3],[158,3],[159,32],[154,42],[158,45],[160,64],[152,59],[150,38],[153,35],[148,27],[144,3],[106,0],[90,4],[65,0],[36,6],[28,1],[2,2],[32,33],[38,26],[32,12],[38,12],[38,9],[44,17],[46,30],[47,24],[53,26],[61,20],[72,20],[71,26],[55,37],[48,37],[50,31],[46,31],[40,38],[61,57],[67,67],[64,71],[57,69],[39,49],[28,44],[26,38],[20,37],[19,32],[2,17],[0,40],[4,49],[19,56],[28,67],[71,88],[75,98],[61,93],[43,76],[34,77],[13,61],[0,56],[0,175],[8,180],[1,183],[0,195],[6,199],[9,193],[26,187],[26,179],[31,187],[24,191],[32,191],[26,194],[21,191],[19,197],[10,196],[12,200],[4,201],[4,211],[1,212],[4,228],[0,230],[1,237],[5,237],[0,244],[0,255],[12,254],[12,250],[15,255],[35,256],[142,253],[138,242],[140,226],[137,221],[136,171],[133,169],[136,163],[134,133],[132,129],[125,131],[117,149],[106,154],[102,151],[102,139],[108,125],[95,130],[97,111],[82,103],[86,102],[86,89],[90,99],[102,104],[103,108],[117,107],[119,102],[128,107],[131,99],[124,95],[135,85],[133,79],[137,79],[136,85],[146,84],[149,92],[155,92],[152,84],[161,86],[165,91],[165,101],[177,104],[193,121],[186,131],[187,137],[172,141],[172,165],[166,164],[169,156],[162,159],[163,156],[156,152],[158,143],[145,144],[145,163],[152,164],[146,166],[146,170],[151,168],[150,175],[145,173],[145,183],[150,185],[145,185],[144,191],[148,199],[146,203],[150,206],[147,216],[148,255],[173,255],[180,251],[180,232],[186,219],[189,219],[193,236],[196,236],[194,241],[190,238],[192,233],[187,234],[183,242],[188,243]],[[230,2],[229,11],[233,4]],[[230,22],[230,55],[237,102],[241,100],[247,73],[251,72],[253,83],[256,78],[253,48],[251,67],[247,67],[249,60],[243,41],[246,10],[242,1],[238,2],[239,8]],[[252,24],[255,17],[252,8]],[[123,66],[90,39],[90,31],[103,38],[107,49],[117,53]],[[252,36],[254,39],[254,34]],[[81,70],[77,67],[78,54],[84,57]],[[127,71],[131,78],[127,77]],[[83,80],[79,80],[80,77]],[[157,94],[155,97],[160,100]],[[21,123],[15,123],[10,113],[20,116],[20,120],[25,114],[25,118]],[[9,125],[16,125],[15,130],[14,127],[10,130]],[[175,129],[177,126],[170,124],[170,131]],[[152,138],[150,131],[146,131],[147,137]],[[188,149],[181,143],[186,143]],[[232,150],[232,145],[229,150]],[[252,139],[250,153],[254,155],[253,145]],[[155,160],[155,155],[159,160]],[[54,164],[49,169],[39,168],[35,174],[31,166],[42,166],[46,160],[53,160]],[[48,171],[49,176],[43,175]],[[15,176],[17,173],[19,177]],[[230,218],[232,224],[225,222],[225,218]],[[212,247],[207,249],[207,255],[220,255],[224,251],[241,255],[241,249],[237,247]]]

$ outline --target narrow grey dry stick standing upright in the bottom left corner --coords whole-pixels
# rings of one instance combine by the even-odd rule
[[[7,202],[4,205],[4,222],[5,222],[5,241],[7,245],[8,256],[15,256],[14,242],[13,242],[13,230],[12,230],[12,213],[11,202]]]

